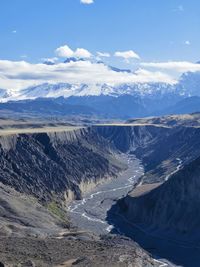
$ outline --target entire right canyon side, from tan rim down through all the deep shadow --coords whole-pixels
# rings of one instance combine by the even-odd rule
[[[167,130],[136,147],[146,172],[108,211],[107,220],[113,232],[120,230],[149,252],[178,266],[198,267],[199,114],[132,120],[127,126],[138,123]]]

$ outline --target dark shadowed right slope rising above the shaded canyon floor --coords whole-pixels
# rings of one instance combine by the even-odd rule
[[[200,158],[171,179],[140,196],[128,195],[124,215],[151,230],[161,230],[187,241],[200,242]]]

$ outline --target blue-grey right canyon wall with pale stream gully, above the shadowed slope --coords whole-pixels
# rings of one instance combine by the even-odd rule
[[[165,181],[180,165],[200,156],[200,128],[179,126],[163,132],[146,147],[135,151],[145,166],[143,183]]]

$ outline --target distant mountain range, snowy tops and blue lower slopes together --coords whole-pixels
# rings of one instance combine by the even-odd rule
[[[175,85],[44,83],[19,91],[0,89],[0,110],[121,119],[184,114],[200,111],[199,85],[200,72],[183,74]]]

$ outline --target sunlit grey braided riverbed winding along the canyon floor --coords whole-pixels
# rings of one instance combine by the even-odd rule
[[[134,155],[122,155],[128,169],[118,178],[97,185],[83,196],[83,200],[73,201],[68,207],[73,225],[96,234],[106,234],[112,225],[106,221],[107,211],[115,202],[126,196],[144,173],[143,166]]]

